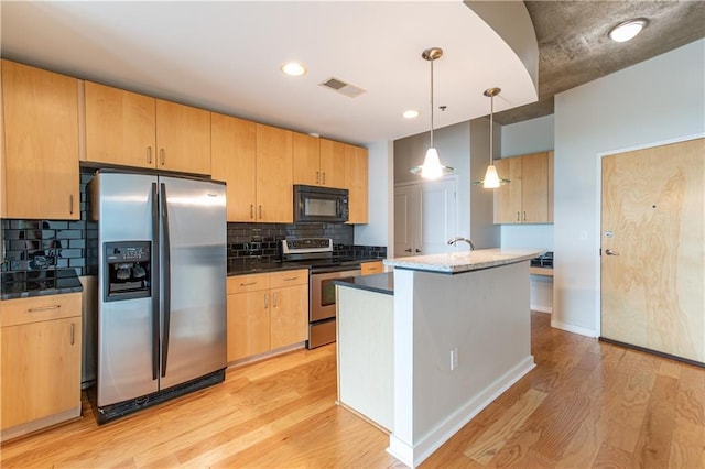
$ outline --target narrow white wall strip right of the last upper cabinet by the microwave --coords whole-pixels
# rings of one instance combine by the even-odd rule
[[[355,243],[360,246],[392,247],[394,203],[393,142],[373,142],[368,150],[368,223],[355,226]]]

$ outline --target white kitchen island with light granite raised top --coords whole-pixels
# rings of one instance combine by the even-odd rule
[[[370,307],[375,303],[369,297],[356,310],[348,307],[345,295],[340,297],[339,353],[357,347],[357,355],[364,356],[362,350],[373,349],[371,356],[378,357],[382,371],[365,377],[365,367],[350,366],[339,357],[338,373],[341,384],[354,379],[361,381],[360,389],[390,388],[386,396],[382,393],[384,402],[371,404],[378,411],[391,405],[391,412],[370,416],[357,411],[390,430],[388,451],[397,459],[419,466],[534,368],[529,261],[538,254],[535,250],[487,249],[391,259],[384,261],[394,268],[388,291],[339,284],[339,295],[343,290],[360,290],[393,298],[389,312]],[[373,338],[345,330],[351,319],[360,319],[355,316],[360,313],[367,317],[362,320],[377,321],[356,326],[375,331]],[[387,364],[386,350],[391,356]],[[341,403],[356,401],[349,393],[340,395]]]

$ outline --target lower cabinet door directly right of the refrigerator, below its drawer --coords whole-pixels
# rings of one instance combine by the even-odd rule
[[[269,350],[269,290],[228,295],[228,362]]]

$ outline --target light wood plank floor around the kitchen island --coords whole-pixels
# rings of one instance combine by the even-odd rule
[[[705,369],[552,329],[538,367],[425,468],[705,468]],[[395,468],[386,434],[336,406],[335,346],[229,370],[226,382],[98,427],[2,446],[2,468]]]

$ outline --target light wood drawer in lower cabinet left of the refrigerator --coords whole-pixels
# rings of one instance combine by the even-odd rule
[[[6,299],[0,302],[0,326],[75,317],[80,312],[80,293]]]

